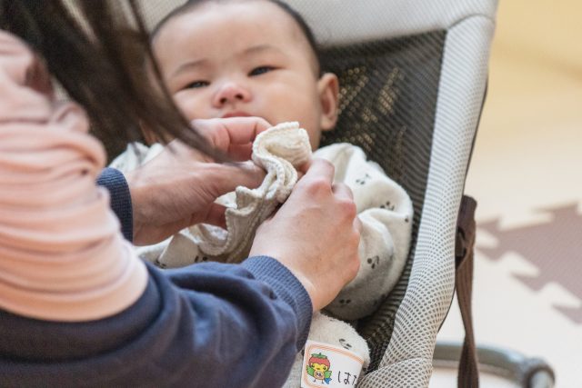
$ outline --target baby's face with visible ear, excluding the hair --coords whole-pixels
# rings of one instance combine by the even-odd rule
[[[190,120],[298,121],[314,149],[321,131],[336,124],[336,77],[316,75],[305,35],[277,5],[199,5],[162,27],[154,51],[170,93]]]

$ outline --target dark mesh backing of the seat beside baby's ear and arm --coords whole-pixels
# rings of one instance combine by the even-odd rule
[[[414,257],[426,190],[445,31],[326,49],[323,68],[338,75],[340,116],[323,144],[348,142],[364,149],[401,184],[415,207],[411,250],[403,275],[359,331],[375,370],[394,326]]]

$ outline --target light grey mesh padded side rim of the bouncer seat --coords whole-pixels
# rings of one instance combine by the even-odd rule
[[[455,225],[487,79],[494,23],[475,15],[447,31],[431,166],[406,295],[380,366],[431,360],[453,297]]]

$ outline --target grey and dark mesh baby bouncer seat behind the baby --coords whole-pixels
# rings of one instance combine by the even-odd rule
[[[149,25],[185,0],[142,1]],[[457,214],[485,98],[497,0],[286,0],[340,79],[323,144],[360,146],[414,204],[395,289],[357,323],[371,351],[358,387],[427,386],[455,291]]]

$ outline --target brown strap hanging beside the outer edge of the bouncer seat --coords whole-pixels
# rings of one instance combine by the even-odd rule
[[[477,348],[473,333],[473,313],[471,311],[471,294],[473,291],[473,254],[475,246],[475,209],[477,202],[463,195],[457,220],[457,242],[455,258],[457,274],[457,300],[461,310],[461,318],[465,326],[465,342],[461,352],[457,386],[459,388],[477,388],[479,372],[477,369]]]

